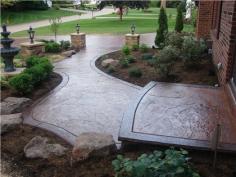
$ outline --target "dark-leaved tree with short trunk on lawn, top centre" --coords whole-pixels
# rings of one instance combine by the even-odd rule
[[[138,1],[121,1],[121,0],[101,0],[98,4],[99,9],[103,9],[105,6],[113,5],[119,9],[120,20],[122,20],[124,7],[129,7],[131,9],[145,9],[148,8],[150,1],[138,0]]]

